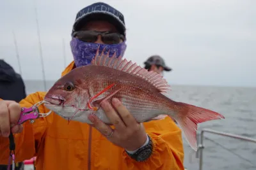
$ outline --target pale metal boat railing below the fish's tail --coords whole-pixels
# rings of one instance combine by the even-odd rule
[[[247,138],[245,136],[239,136],[236,134],[230,134],[227,132],[220,132],[220,131],[214,131],[212,129],[202,129],[202,131],[198,134],[198,139],[200,139],[200,141],[198,142],[198,150],[196,152],[196,158],[199,158],[199,170],[202,170],[202,166],[203,166],[203,150],[204,150],[204,133],[205,132],[209,132],[211,134],[217,134],[220,136],[227,136],[230,138],[235,138],[235,139],[241,139],[244,141],[248,141],[248,142],[252,142],[252,143],[256,143],[256,139],[253,138]]]

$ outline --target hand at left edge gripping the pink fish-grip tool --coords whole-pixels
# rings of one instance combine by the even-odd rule
[[[15,101],[0,101],[0,136],[8,137],[10,131],[22,132],[22,125],[17,125],[20,118],[20,105]]]

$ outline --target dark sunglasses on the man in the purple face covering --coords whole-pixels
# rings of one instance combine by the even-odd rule
[[[86,43],[94,43],[97,41],[98,36],[101,36],[103,43],[105,44],[118,44],[120,40],[124,41],[125,36],[118,32],[99,32],[99,31],[76,31],[74,32],[74,37]]]

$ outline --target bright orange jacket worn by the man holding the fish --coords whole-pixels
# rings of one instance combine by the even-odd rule
[[[73,67],[74,62],[63,71],[62,76]],[[30,94],[20,101],[20,106],[30,107],[42,101],[44,96],[45,92]],[[40,106],[39,111],[46,113],[49,110]],[[93,170],[184,169],[181,131],[169,117],[144,123],[154,143],[154,153],[145,162],[132,160],[123,148],[110,143],[88,124],[74,121],[67,124],[67,120],[54,113],[36,119],[33,124],[28,121],[23,125],[24,131],[15,134],[15,157],[20,162],[36,156],[36,170],[89,169],[88,164]],[[0,151],[0,164],[8,164],[8,138],[0,137]]]

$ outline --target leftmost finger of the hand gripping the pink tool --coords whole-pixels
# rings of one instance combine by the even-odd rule
[[[4,137],[8,137],[10,134],[9,110],[4,101],[0,101],[0,131]]]

